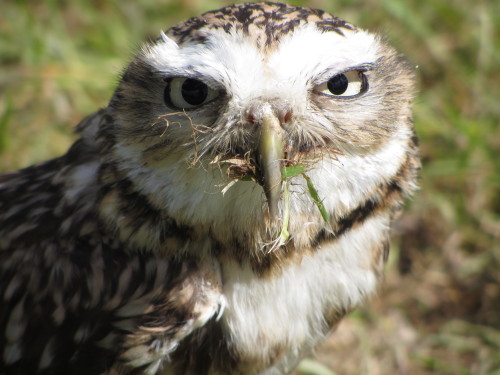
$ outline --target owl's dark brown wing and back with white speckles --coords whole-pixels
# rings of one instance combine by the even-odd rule
[[[2,374],[142,372],[217,312],[216,268],[137,253],[108,234],[98,202],[110,187],[90,173],[83,194],[68,194],[82,183],[79,169],[91,168],[89,151],[82,139],[61,158],[0,177]],[[143,198],[124,199],[126,215]]]

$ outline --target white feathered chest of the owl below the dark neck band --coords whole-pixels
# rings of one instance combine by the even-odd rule
[[[237,263],[223,265],[227,305],[222,326],[242,363],[261,363],[265,374],[288,372],[374,292],[377,273],[369,259],[381,237],[364,228],[373,225],[378,224],[369,221],[322,244],[277,276],[259,277]]]

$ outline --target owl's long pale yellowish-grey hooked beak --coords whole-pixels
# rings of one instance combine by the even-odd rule
[[[278,218],[284,151],[283,129],[278,117],[272,111],[266,111],[262,116],[257,151],[261,183],[267,198],[269,219],[273,223]]]

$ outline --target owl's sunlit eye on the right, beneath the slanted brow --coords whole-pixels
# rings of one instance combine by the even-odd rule
[[[366,91],[367,83],[364,74],[357,70],[333,76],[318,85],[316,92],[331,97],[353,97]]]

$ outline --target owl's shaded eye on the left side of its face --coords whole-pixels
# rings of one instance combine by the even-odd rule
[[[218,91],[193,78],[172,78],[165,88],[165,103],[182,109],[192,109],[218,96]]]

